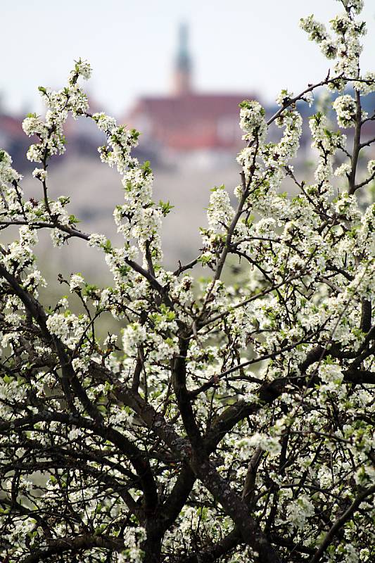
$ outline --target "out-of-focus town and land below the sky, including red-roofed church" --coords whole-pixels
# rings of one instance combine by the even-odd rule
[[[150,160],[155,175],[155,200],[170,201],[174,208],[166,218],[163,229],[165,265],[177,267],[177,261],[189,261],[201,245],[199,227],[205,225],[210,189],[225,184],[232,193],[239,183],[239,166],[236,154],[241,150],[239,129],[239,103],[243,99],[257,99],[272,115],[277,106],[262,101],[262,92],[249,89],[233,94],[212,94],[196,91],[193,82],[193,61],[189,54],[189,29],[180,25],[177,49],[171,64],[170,91],[165,96],[139,96],[134,105],[117,116],[119,122],[135,127],[141,132],[139,147],[134,153],[140,160]],[[308,115],[325,103],[329,111],[331,101],[314,101],[309,108],[301,103],[304,130],[301,150],[295,161],[295,170],[303,177],[311,177],[314,154],[310,148]],[[328,106],[327,106],[328,103]],[[90,99],[91,111],[106,111]],[[374,113],[375,96],[365,98],[364,110]],[[33,163],[26,160],[30,144],[21,127],[23,116],[8,115],[0,106],[0,147],[11,153],[15,167],[25,175],[23,189],[27,197],[38,197],[40,184],[32,179]],[[270,130],[271,140],[277,140],[277,127]],[[364,130],[366,137],[375,137],[375,121],[369,121]],[[68,120],[65,128],[67,151],[63,157],[54,158],[49,168],[51,197],[67,195],[71,209],[82,220],[81,228],[87,232],[103,232],[115,242],[118,240],[112,213],[121,203],[122,191],[117,173],[101,163],[97,147],[103,136],[88,120]],[[350,139],[349,139],[350,141]],[[306,178],[307,177],[307,178]],[[283,186],[283,191],[293,191],[293,186]],[[96,253],[82,253],[82,243],[70,243],[75,253],[66,249],[52,252],[51,243],[42,244],[42,258],[53,271],[66,273],[84,271],[94,274],[105,269],[98,265]],[[93,251],[94,252],[94,251]]]

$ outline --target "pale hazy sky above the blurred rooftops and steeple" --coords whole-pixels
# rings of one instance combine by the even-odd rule
[[[190,29],[193,79],[201,91],[298,91],[329,68],[298,27],[328,22],[334,0],[0,0],[1,82],[12,110],[40,110],[37,86],[61,87],[75,58],[94,68],[89,90],[121,115],[139,94],[167,93],[177,27]],[[367,0],[362,66],[375,70],[375,1]]]

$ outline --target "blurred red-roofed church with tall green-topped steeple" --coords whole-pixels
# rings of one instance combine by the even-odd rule
[[[188,29],[179,27],[172,93],[142,96],[126,115],[125,122],[142,133],[145,144],[172,151],[235,149],[242,145],[239,103],[256,98],[239,94],[200,94],[191,80]]]

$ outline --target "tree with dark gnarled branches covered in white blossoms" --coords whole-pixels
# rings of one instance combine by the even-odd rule
[[[169,206],[153,202],[151,169],[132,157],[138,133],[89,113],[78,84],[87,62],[64,89],[39,88],[45,118],[23,122],[37,139],[27,157],[38,163],[39,200],[24,196],[1,151],[0,226],[19,229],[0,246],[4,563],[375,560],[375,208],[358,203],[375,160],[368,174],[357,170],[375,141],[361,136],[375,119],[362,110],[375,74],[360,69],[362,0],[341,4],[331,34],[301,20],[332,59],[329,75],[298,96],[282,91],[268,121],[258,102],[241,104],[236,205],[224,186],[212,191],[202,251],[175,272],[160,248]],[[296,102],[310,103],[320,86],[338,92],[338,130],[322,113],[310,118],[310,184],[291,166]],[[78,229],[68,198],[49,195],[69,114],[106,134],[100,157],[125,192],[118,248]],[[277,143],[267,141],[272,122]],[[350,143],[341,129],[353,129]],[[293,198],[280,194],[286,175]],[[103,289],[77,273],[60,279],[84,314],[66,297],[49,309],[39,301],[40,230],[57,247],[72,238],[95,247],[112,272]],[[246,264],[234,285],[223,281],[231,260]],[[203,282],[189,274],[196,265],[207,269]],[[121,339],[98,338],[108,314]]]

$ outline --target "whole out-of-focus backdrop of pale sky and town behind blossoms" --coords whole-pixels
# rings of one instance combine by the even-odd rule
[[[25,175],[25,196],[40,196],[40,184],[31,177],[34,165],[25,158],[30,139],[21,122],[26,113],[44,113],[39,85],[63,87],[74,60],[87,58],[94,69],[85,84],[91,110],[139,129],[136,156],[151,161],[155,200],[174,205],[163,239],[165,265],[175,268],[178,260],[198,253],[198,227],[205,226],[212,186],[225,184],[232,193],[239,184],[239,102],[257,99],[269,116],[281,89],[297,94],[324,79],[329,61],[298,23],[312,12],[328,23],[341,8],[334,0],[1,2],[0,147]],[[374,0],[367,0],[363,70],[375,70],[374,15]],[[300,105],[305,117],[322,105],[319,96],[312,108]],[[365,103],[373,112],[375,96]],[[365,134],[375,137],[375,122],[368,125]],[[270,135],[276,139],[277,131]],[[87,120],[69,120],[66,138],[65,156],[54,158],[49,168],[51,197],[70,196],[82,229],[119,241],[112,212],[122,203],[122,186],[98,158],[101,134]],[[308,180],[314,154],[307,120],[301,145],[295,171]],[[293,191],[287,180],[285,190]],[[70,249],[53,251],[42,237],[45,267],[53,275],[80,271],[107,281],[96,251],[82,252],[81,241]]]

